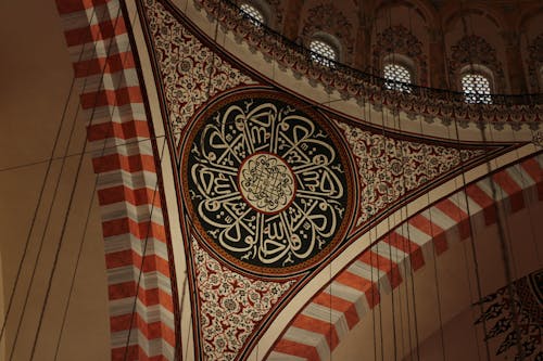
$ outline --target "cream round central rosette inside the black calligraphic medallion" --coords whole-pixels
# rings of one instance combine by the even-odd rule
[[[253,154],[243,162],[238,175],[243,198],[254,209],[277,214],[294,198],[295,183],[285,160],[268,153]]]

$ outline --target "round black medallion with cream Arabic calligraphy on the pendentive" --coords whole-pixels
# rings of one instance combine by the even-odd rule
[[[293,274],[344,236],[352,178],[342,144],[320,113],[291,98],[224,96],[197,117],[181,155],[201,240],[236,268]]]

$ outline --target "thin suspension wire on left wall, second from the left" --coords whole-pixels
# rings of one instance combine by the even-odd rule
[[[118,25],[118,21],[119,21],[119,14],[121,14],[121,4],[117,9],[117,13],[115,15],[115,22],[113,23],[113,28],[115,29]],[[108,46],[108,51],[106,51],[106,57],[110,56],[111,54],[111,50],[113,48],[113,39],[111,39],[109,46]],[[94,47],[94,51],[96,51],[96,47]],[[126,60],[126,57],[125,57]],[[102,69],[101,69],[101,75],[100,75],[100,81],[99,81],[99,90],[100,88],[102,88],[103,86],[103,79],[104,79],[104,73],[105,73],[105,67],[106,67],[106,63],[103,64],[102,66]],[[91,126],[92,125],[92,121],[94,120],[94,114],[96,114],[96,106],[98,104],[98,99],[99,99],[99,90],[97,91],[96,95],[94,95],[94,105],[92,107],[92,111],[91,111],[91,115],[90,115],[90,120],[89,120],[89,124],[88,126]],[[70,137],[70,140],[72,140],[72,134]],[[87,149],[87,145],[88,145],[88,142],[85,141],[84,142],[84,146],[83,146],[83,152],[81,153],[85,153],[86,149]],[[79,176],[80,176],[80,171],[81,171],[81,166],[83,166],[83,159],[84,159],[84,156],[83,154],[79,156],[79,159],[78,159],[78,164],[77,164],[77,169],[76,169],[76,177],[75,177],[75,180],[74,180],[74,183],[72,185],[72,190],[70,192],[70,199],[68,199],[68,206],[67,206],[67,209],[66,209],[66,212],[65,212],[65,216],[64,216],[64,221],[63,221],[63,224],[62,224],[62,230],[61,230],[61,235],[60,235],[60,241],[59,241],[59,244],[56,246],[56,249],[55,249],[55,254],[54,254],[54,260],[53,260],[53,263],[52,263],[52,269],[51,269],[51,272],[49,274],[49,281],[48,281],[48,287],[47,287],[47,291],[46,291],[46,297],[45,297],[45,300],[43,300],[43,304],[42,304],[42,307],[41,307],[41,311],[40,311],[40,317],[39,317],[39,320],[38,320],[38,327],[36,330],[36,333],[35,333],[35,336],[34,336],[34,343],[33,343],[33,348],[31,348],[31,351],[30,351],[30,360],[34,359],[34,354],[36,352],[36,346],[37,346],[37,341],[38,341],[38,338],[39,338],[39,334],[40,334],[40,331],[41,331],[41,325],[42,325],[42,321],[43,321],[43,315],[45,315],[45,312],[46,312],[46,309],[47,309],[47,305],[49,302],[49,296],[50,296],[50,292],[51,292],[51,287],[52,287],[52,280],[54,279],[54,275],[56,273],[56,266],[59,263],[59,256],[60,256],[60,252],[62,249],[62,246],[64,244],[64,240],[65,240],[65,234],[66,234],[66,227],[67,227],[67,221],[68,221],[68,218],[70,218],[70,214],[71,214],[71,210],[72,210],[72,206],[74,204],[74,197],[75,197],[75,191],[76,191],[76,188],[77,188],[77,183],[78,183],[78,180],[79,180]],[[64,162],[63,162],[64,164]],[[94,190],[96,191],[96,184],[97,184],[97,181],[98,181],[98,177],[96,179],[96,182],[94,182]],[[43,234],[45,235],[45,234]],[[31,284],[31,283],[30,283]],[[18,332],[17,332],[18,334]],[[15,349],[15,348],[13,348]],[[12,353],[10,356],[10,360],[13,358],[13,350],[12,350]]]

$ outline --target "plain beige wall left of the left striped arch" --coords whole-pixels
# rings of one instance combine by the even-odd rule
[[[5,315],[10,294],[14,287],[18,265],[23,257],[27,232],[39,191],[47,171],[47,159],[54,143],[63,107],[70,95],[72,66],[61,30],[61,22],[53,0],[0,2],[0,238],[1,280],[3,296],[0,319]],[[72,93],[61,141],[55,157],[64,154],[70,128],[77,109],[77,91]],[[75,123],[75,134],[68,154],[80,152],[85,141],[85,126]],[[15,333],[21,323],[13,360],[29,360],[46,297],[55,249],[76,179],[78,156],[66,159],[60,176],[62,160],[51,165],[38,217],[30,237],[15,288],[12,310],[5,333],[5,354],[9,360]],[[35,165],[30,165],[37,163]],[[25,166],[27,165],[27,166]],[[10,167],[18,167],[9,169]],[[36,261],[39,243],[52,203],[54,186],[59,183],[56,201]],[[83,246],[81,259],[75,276],[58,360],[108,360],[110,358],[109,315],[104,270],[103,241],[97,199],[92,199],[94,175],[90,158],[85,156],[76,180],[75,197],[70,210],[67,228],[59,254],[56,273],[52,280],[49,302],[42,320],[34,360],[53,360],[60,337],[62,317],[66,309],[72,276],[76,272],[76,257],[83,237],[84,224],[90,208],[90,223]],[[37,272],[30,286],[30,275]],[[23,305],[28,287],[26,310]],[[0,291],[0,295],[2,292]]]

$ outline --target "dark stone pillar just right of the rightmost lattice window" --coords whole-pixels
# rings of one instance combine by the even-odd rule
[[[505,42],[505,61],[509,75],[510,92],[513,94],[528,93],[522,54],[520,52],[520,36],[516,31],[502,33]]]

